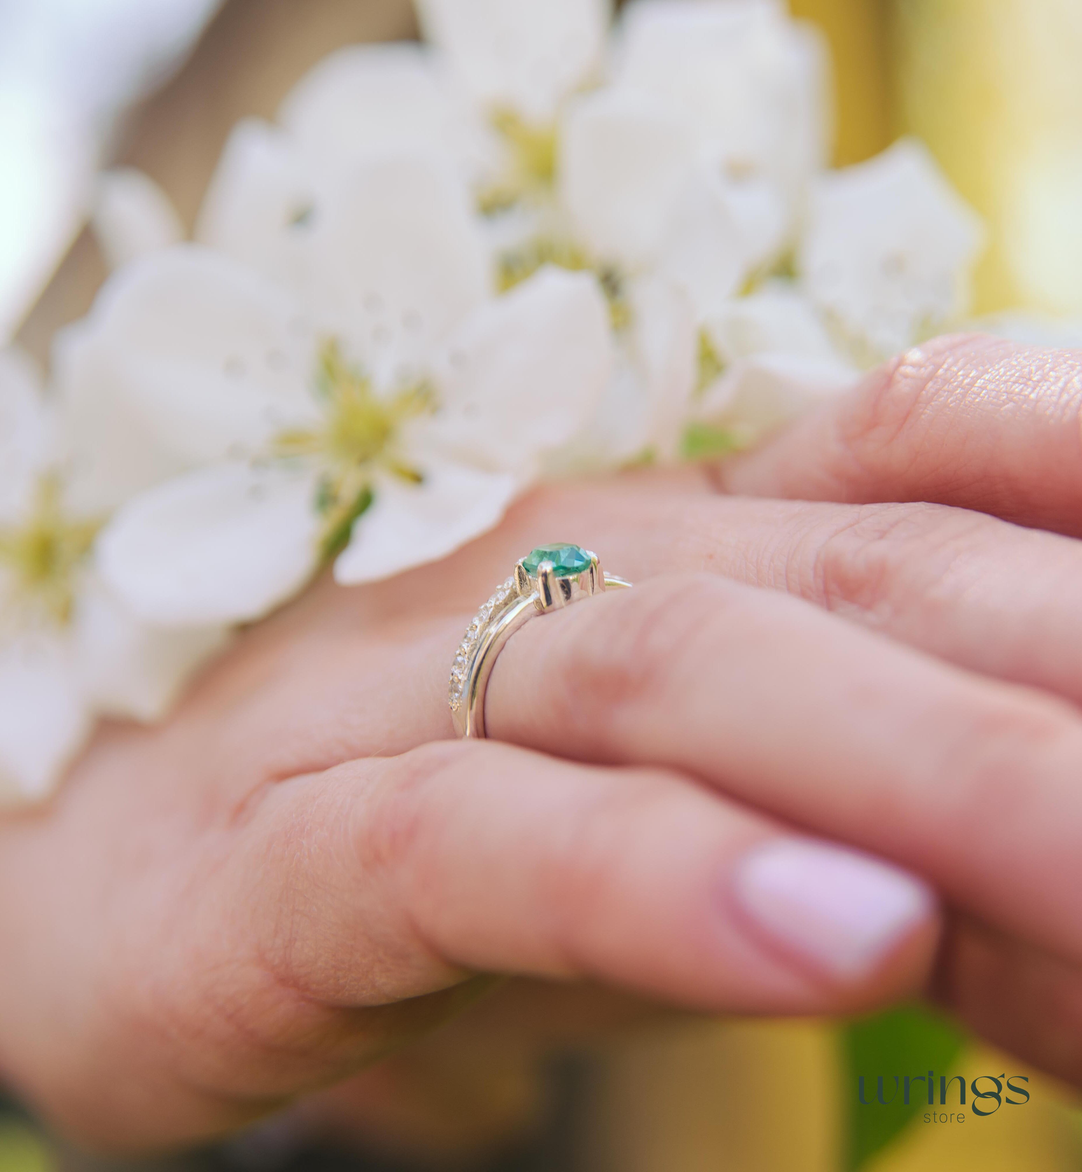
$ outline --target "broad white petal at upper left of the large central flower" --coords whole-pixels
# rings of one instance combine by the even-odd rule
[[[118,272],[60,341],[73,502],[107,512],[186,468],[318,418],[315,340],[277,286],[183,245]]]

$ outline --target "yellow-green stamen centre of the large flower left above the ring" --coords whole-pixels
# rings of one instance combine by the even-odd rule
[[[402,457],[397,438],[407,420],[435,408],[435,395],[427,382],[377,395],[372,380],[346,362],[334,340],[320,352],[315,384],[326,407],[324,424],[283,431],[273,454],[309,458],[320,465],[315,507],[324,522],[320,548],[324,558],[331,559],[348,544],[354,523],[374,500],[377,470],[410,484],[423,481],[423,473]]]

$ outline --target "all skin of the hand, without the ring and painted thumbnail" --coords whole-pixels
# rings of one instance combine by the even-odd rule
[[[927,992],[1082,1083],[1080,420],[1077,355],[941,341],[722,468],[549,486],[438,566],[320,582],[0,824],[0,1070],[97,1147],[299,1103],[464,1151],[529,1117],[537,1054],[660,1008]],[[456,742],[462,631],[554,537],[637,588],[528,625],[494,740]],[[795,838],[939,902],[841,973],[734,898]]]

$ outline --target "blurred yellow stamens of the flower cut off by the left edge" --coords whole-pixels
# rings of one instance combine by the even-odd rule
[[[8,573],[14,605],[32,619],[66,626],[75,608],[79,571],[100,529],[100,522],[68,519],[59,479],[42,477],[26,524],[0,527],[0,566]]]

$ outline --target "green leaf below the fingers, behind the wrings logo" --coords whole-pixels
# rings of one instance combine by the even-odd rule
[[[938,1098],[939,1078],[947,1074],[966,1037],[939,1014],[920,1007],[893,1009],[850,1022],[842,1030],[842,1103],[848,1115],[846,1172],[865,1167],[873,1156],[887,1147],[923,1111],[928,1109],[927,1084],[913,1082],[910,1103],[904,1102],[906,1076],[934,1071]],[[864,1077],[864,1099],[859,1079]],[[878,1079],[883,1097],[878,1101]],[[894,1077],[898,1078],[897,1091]]]

